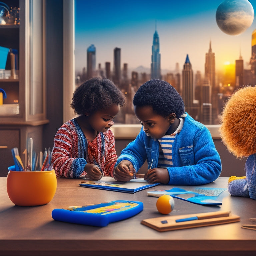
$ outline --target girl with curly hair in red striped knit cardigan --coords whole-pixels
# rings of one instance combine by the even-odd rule
[[[109,128],[124,104],[122,92],[106,78],[92,78],[76,88],[71,107],[78,117],[64,123],[54,137],[57,176],[99,180],[112,175],[117,155]]]

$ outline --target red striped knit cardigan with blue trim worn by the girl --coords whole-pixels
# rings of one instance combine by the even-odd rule
[[[104,175],[112,176],[117,160],[111,130],[99,132],[87,141],[76,119],[64,123],[54,137],[51,163],[58,177],[79,178],[87,163],[98,164]]]

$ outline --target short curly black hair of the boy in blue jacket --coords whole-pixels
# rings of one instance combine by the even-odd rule
[[[152,106],[154,112],[164,117],[175,113],[179,118],[185,113],[184,102],[176,89],[159,79],[151,79],[141,85],[134,95],[133,105]]]

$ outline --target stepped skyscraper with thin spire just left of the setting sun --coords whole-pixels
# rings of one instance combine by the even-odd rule
[[[209,79],[212,88],[215,88],[215,53],[212,52],[212,45],[210,41],[210,47],[208,53],[205,54],[205,77]]]

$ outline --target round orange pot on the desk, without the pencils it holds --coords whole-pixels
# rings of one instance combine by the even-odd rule
[[[56,192],[55,171],[20,172],[8,168],[7,193],[10,200],[19,206],[36,206],[49,203]],[[14,167],[15,168],[15,167]]]

